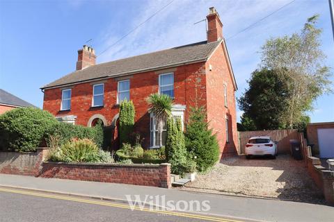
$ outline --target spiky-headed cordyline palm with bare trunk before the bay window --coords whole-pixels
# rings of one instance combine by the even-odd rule
[[[151,94],[148,96],[149,109],[152,112],[158,125],[159,146],[162,146],[162,130],[164,122],[172,114],[173,99],[166,94]]]

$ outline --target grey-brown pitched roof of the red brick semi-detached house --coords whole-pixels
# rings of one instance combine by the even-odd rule
[[[220,43],[221,41],[210,43],[207,43],[207,41],[197,42],[172,49],[147,53],[141,56],[93,65],[86,69],[67,74],[62,78],[43,86],[42,89],[110,76],[125,76],[127,74],[170,67],[173,65],[177,66],[182,64],[182,62],[206,60]]]

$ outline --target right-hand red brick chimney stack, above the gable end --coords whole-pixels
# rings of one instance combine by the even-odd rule
[[[223,37],[223,24],[216,8],[209,8],[207,15],[207,42],[216,42]]]

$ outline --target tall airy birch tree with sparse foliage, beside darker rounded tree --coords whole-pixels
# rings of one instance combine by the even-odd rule
[[[315,99],[332,92],[331,69],[324,65],[326,56],[320,48],[322,30],[316,26],[318,18],[308,18],[301,33],[271,38],[262,46],[261,67],[276,71],[288,90],[280,121],[289,128],[305,120],[305,112],[312,110]]]

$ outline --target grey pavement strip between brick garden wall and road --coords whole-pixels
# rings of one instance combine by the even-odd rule
[[[33,191],[47,191],[54,194],[100,198],[119,203],[128,203],[126,195],[130,195],[132,198],[135,198],[135,195],[140,195],[141,200],[144,200],[146,195],[148,195],[147,200],[152,200],[155,196],[164,196],[166,202],[168,200],[173,200],[174,202],[186,201],[187,203],[194,200],[198,200],[200,203],[209,201],[210,207],[208,211],[196,213],[222,216],[238,219],[239,221],[333,221],[334,218],[334,208],[326,205],[219,194],[200,194],[191,191],[180,191],[178,189],[105,182],[0,174],[0,186]],[[3,195],[2,192],[1,195]],[[150,199],[150,197],[152,198]],[[157,202],[154,203],[157,204]],[[157,205],[161,205],[161,202]],[[187,212],[191,212],[191,210],[187,210]]]

